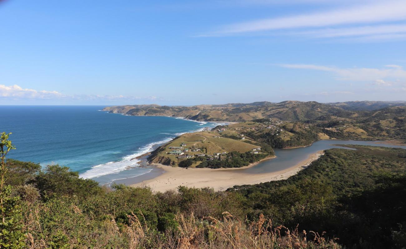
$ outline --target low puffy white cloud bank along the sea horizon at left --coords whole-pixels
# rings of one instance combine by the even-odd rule
[[[0,98],[10,100],[25,99],[25,100],[80,100],[80,101],[119,101],[119,100],[162,100],[156,96],[138,97],[138,96],[123,96],[123,95],[65,95],[56,91],[45,91],[22,88],[19,85],[0,85]]]

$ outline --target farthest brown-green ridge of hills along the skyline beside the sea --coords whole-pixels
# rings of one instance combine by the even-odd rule
[[[282,120],[319,119],[324,116],[349,117],[350,111],[317,102],[284,101],[280,103],[254,102],[249,104],[198,105],[198,106],[112,106],[105,111],[127,115],[160,115],[186,117],[205,121],[250,121],[261,118]]]

